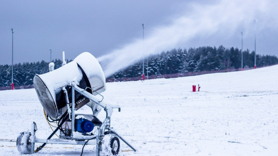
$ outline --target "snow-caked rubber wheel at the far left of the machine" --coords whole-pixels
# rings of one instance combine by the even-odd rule
[[[17,137],[17,150],[21,154],[31,153],[31,142],[29,142],[30,136],[30,132],[21,132]]]

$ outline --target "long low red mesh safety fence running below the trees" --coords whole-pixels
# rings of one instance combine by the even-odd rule
[[[274,64],[277,65],[277,64]],[[269,65],[273,66],[273,65]],[[257,68],[263,68],[263,67],[268,67],[268,66],[261,66]],[[211,73],[225,73],[225,72],[233,72],[233,71],[242,71],[242,70],[250,70],[254,69],[252,68],[237,68],[237,69],[223,69],[223,70],[214,70],[214,71],[200,71],[200,72],[188,72],[188,73],[176,73],[176,74],[164,74],[164,75],[151,75],[146,77],[145,79],[160,79],[160,78],[176,78],[176,77],[187,77],[187,76],[196,76],[196,75],[203,75],[203,74],[211,74]],[[124,78],[110,78],[106,79],[106,82],[123,82],[123,81],[138,81],[138,80],[143,80],[142,76],[137,76],[137,77],[124,77]],[[34,88],[34,85],[26,85],[26,86],[14,86],[14,89],[29,89],[29,88]],[[0,87],[0,90],[11,90],[12,86],[6,86],[6,87]]]

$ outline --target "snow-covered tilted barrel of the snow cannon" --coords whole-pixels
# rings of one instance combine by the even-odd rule
[[[72,62],[53,70],[49,73],[34,76],[34,88],[45,109],[52,118],[58,118],[58,109],[65,107],[65,94],[63,87],[67,90],[69,103],[72,103],[72,88],[74,82],[78,87],[96,95],[106,90],[105,76],[96,58],[84,52],[78,55]],[[75,108],[79,109],[90,100],[78,92],[75,93]]]

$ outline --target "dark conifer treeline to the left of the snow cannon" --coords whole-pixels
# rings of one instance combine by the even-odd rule
[[[63,63],[60,59],[53,60],[53,62],[55,64],[54,69],[61,67]],[[69,61],[67,60],[67,62]],[[35,74],[43,74],[49,71],[48,64],[49,62],[43,60],[41,62],[14,64],[14,86],[32,85]],[[0,86],[10,86],[12,83],[12,68],[8,70],[10,74],[6,72],[9,67],[11,66],[8,64],[0,65]]]

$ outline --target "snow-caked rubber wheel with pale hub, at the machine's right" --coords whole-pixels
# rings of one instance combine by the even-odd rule
[[[117,155],[120,151],[120,140],[114,134],[107,134],[103,137],[102,151],[104,155]]]

